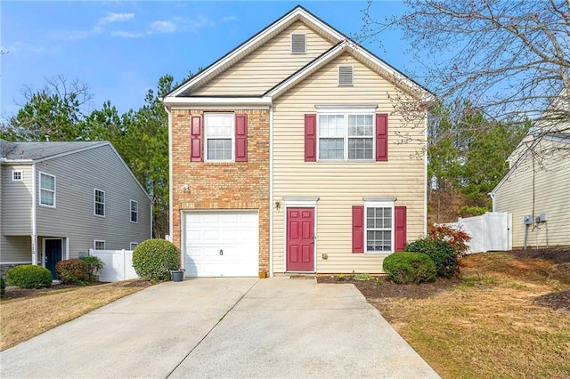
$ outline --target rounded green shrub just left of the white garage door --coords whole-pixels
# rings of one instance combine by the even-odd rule
[[[178,249],[166,239],[147,239],[134,248],[133,267],[141,278],[170,280],[170,270],[178,269]]]

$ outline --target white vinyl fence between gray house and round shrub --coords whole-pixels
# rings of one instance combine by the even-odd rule
[[[133,268],[132,250],[89,249],[89,255],[96,256],[104,263],[103,269],[99,273],[99,281],[101,282],[117,282],[139,277]]]

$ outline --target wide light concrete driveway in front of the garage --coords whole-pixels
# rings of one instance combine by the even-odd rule
[[[289,278],[151,286],[0,353],[0,376],[438,377],[354,286]]]

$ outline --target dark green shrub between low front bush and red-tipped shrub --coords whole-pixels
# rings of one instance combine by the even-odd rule
[[[452,278],[459,269],[457,252],[453,250],[453,246],[440,239],[421,238],[405,246],[403,250],[410,253],[428,254],[436,263],[439,277]]]

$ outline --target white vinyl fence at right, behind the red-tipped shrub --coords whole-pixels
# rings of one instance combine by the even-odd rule
[[[460,218],[447,225],[459,227],[471,236],[468,253],[506,251],[513,248],[512,214],[487,212],[486,214]]]

